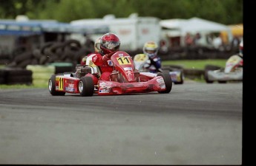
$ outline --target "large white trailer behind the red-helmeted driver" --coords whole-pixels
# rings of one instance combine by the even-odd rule
[[[142,50],[146,41],[160,42],[160,19],[155,17],[138,17],[136,13],[128,18],[115,18],[114,15],[105,15],[104,18],[81,19],[70,22],[76,26],[108,26],[109,31],[115,33],[120,41],[120,49],[124,51]],[[94,41],[103,34],[91,34]],[[85,43],[85,36],[72,34],[70,38]]]

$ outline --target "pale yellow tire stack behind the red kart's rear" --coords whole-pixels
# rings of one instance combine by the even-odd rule
[[[33,72],[33,86],[47,86],[50,76],[55,74],[55,66],[27,65],[26,69]]]

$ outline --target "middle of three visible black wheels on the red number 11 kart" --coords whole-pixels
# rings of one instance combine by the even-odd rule
[[[81,96],[92,96],[94,93],[92,77],[81,77],[78,88]]]

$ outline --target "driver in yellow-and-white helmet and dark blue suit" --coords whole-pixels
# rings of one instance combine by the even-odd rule
[[[149,69],[149,72],[163,72],[161,69],[161,59],[157,56],[158,50],[159,47],[154,41],[148,41],[143,46],[143,53],[149,58],[144,68]]]

